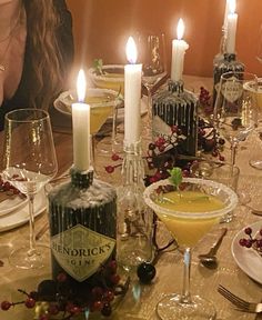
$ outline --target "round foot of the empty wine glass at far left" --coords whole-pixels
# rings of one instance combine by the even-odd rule
[[[20,269],[40,269],[49,263],[50,248],[38,244],[34,250],[29,250],[29,247],[14,249],[10,257],[9,263]]]

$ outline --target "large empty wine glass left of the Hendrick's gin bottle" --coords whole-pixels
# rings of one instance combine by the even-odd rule
[[[36,243],[34,196],[58,171],[49,114],[40,109],[10,111],[4,119],[4,134],[2,176],[27,194],[30,226],[29,246],[14,249],[9,261],[22,269],[42,268],[46,251]]]

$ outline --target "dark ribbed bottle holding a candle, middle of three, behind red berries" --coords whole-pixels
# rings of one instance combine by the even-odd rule
[[[183,81],[168,83],[153,96],[153,138],[171,137],[179,130],[184,137],[178,152],[195,156],[198,149],[198,106],[199,100],[192,92],[184,90]],[[181,136],[181,134],[179,134]]]

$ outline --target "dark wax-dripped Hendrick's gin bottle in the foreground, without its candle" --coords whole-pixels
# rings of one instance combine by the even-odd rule
[[[49,220],[53,278],[66,273],[70,290],[89,294],[115,259],[115,190],[92,171],[71,170],[71,181],[49,193]]]

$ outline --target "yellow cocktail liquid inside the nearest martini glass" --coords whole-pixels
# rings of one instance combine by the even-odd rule
[[[224,208],[221,200],[199,191],[172,191],[164,193],[162,200],[157,200],[157,214],[167,226],[180,246],[194,246],[212,227],[218,223],[218,217],[195,214]],[[188,212],[189,214],[167,214],[161,208],[171,211]]]

